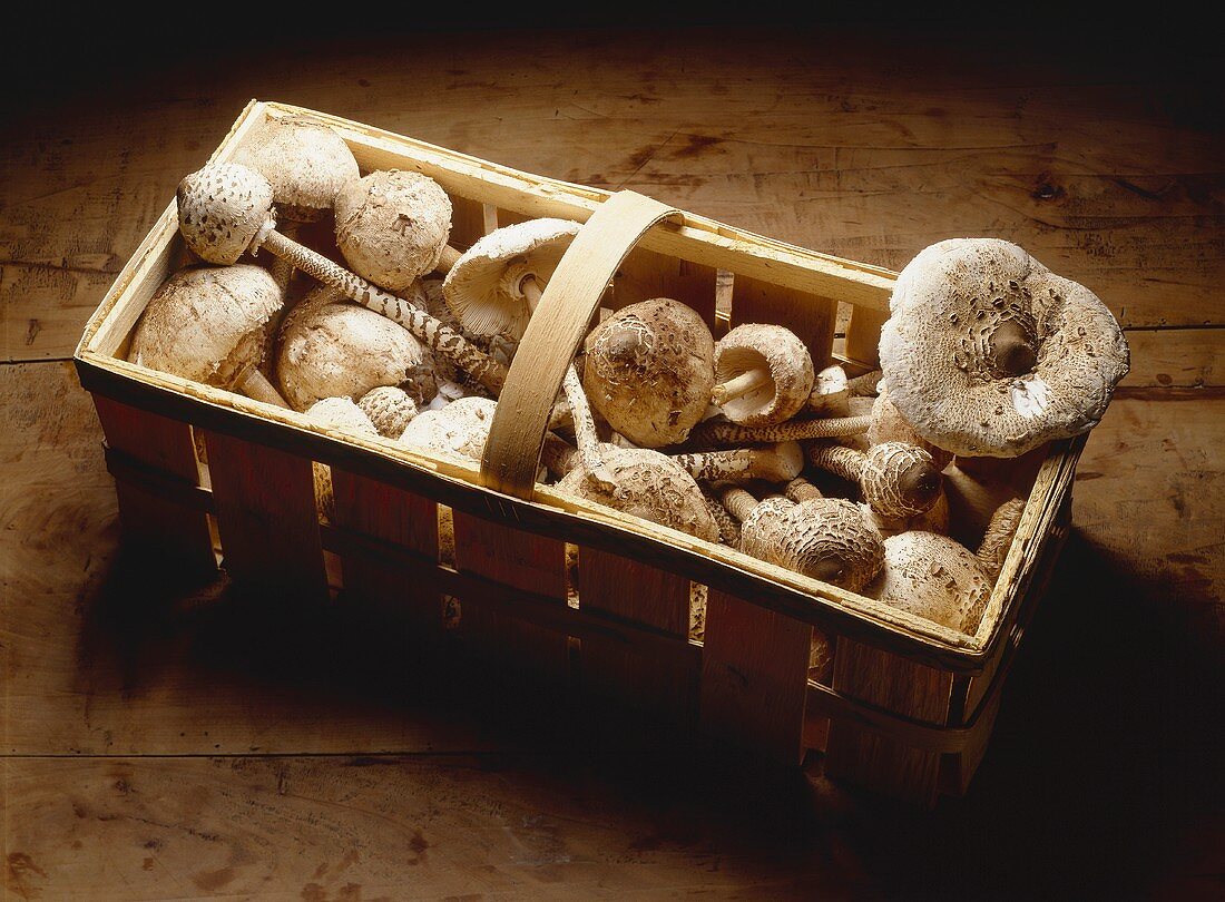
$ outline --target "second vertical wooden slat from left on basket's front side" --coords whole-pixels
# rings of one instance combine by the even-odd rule
[[[223,566],[235,583],[292,607],[328,598],[311,461],[205,431]]]

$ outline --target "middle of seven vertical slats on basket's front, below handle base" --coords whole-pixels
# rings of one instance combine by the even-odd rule
[[[453,512],[456,566],[512,588],[557,599],[566,605],[566,547],[557,539],[533,536]],[[459,631],[475,658],[495,672],[501,668],[554,681],[568,680],[566,636],[523,623],[503,612],[463,604]]]

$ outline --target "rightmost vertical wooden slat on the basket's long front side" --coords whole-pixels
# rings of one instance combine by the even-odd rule
[[[952,675],[839,637],[833,688],[854,699],[916,721],[942,724],[948,717]],[[933,805],[941,756],[884,739],[834,718],[826,749],[826,775],[873,792]]]

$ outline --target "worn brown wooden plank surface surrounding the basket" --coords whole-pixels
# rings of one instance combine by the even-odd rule
[[[926,38],[316,39],[156,55],[9,113],[5,898],[1220,897],[1220,98],[1134,56]],[[1007,238],[1093,288],[1132,374],[969,795],[898,809],[820,756],[782,782],[696,770],[546,706],[508,713],[343,613],[261,619],[127,560],[67,359],[251,97],[895,268]]]

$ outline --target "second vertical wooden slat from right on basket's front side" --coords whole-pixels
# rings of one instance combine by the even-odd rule
[[[707,735],[795,766],[812,627],[710,591],[702,646],[701,724]]]

